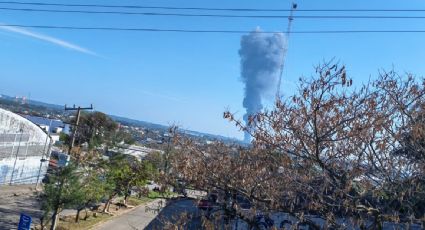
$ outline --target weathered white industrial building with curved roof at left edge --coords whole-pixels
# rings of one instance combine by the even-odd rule
[[[0,109],[0,185],[41,181],[47,172],[51,145],[42,128]]]

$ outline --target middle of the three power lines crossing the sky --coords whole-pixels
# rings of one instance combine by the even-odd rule
[[[236,15],[236,14],[187,14],[187,13],[157,13],[157,12],[131,12],[131,11],[91,11],[91,10],[58,10],[36,8],[0,7],[0,10],[47,12],[47,13],[83,13],[83,14],[117,14],[117,15],[142,15],[142,16],[177,16],[177,17],[214,17],[214,18],[263,18],[282,19],[290,15]],[[295,15],[297,19],[425,19],[425,16],[376,16],[376,15]]]

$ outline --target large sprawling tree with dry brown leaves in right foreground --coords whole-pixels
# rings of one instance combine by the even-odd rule
[[[202,201],[206,228],[223,219],[270,228],[276,213],[293,217],[277,227],[424,225],[424,78],[388,71],[355,85],[344,66],[315,72],[248,124],[224,113],[251,135],[250,146],[175,137],[164,181],[210,194]]]

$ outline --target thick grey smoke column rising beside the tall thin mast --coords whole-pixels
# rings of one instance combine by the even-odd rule
[[[284,38],[282,34],[266,34],[259,29],[242,36],[241,77],[245,84],[243,106],[246,109],[245,122],[248,116],[263,108],[264,96],[276,90],[283,63]],[[245,141],[250,136],[245,133]]]

